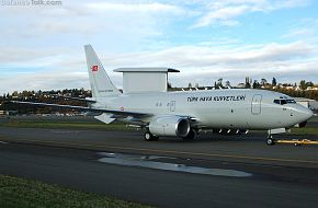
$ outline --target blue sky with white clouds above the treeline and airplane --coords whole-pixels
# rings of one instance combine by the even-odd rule
[[[45,3],[45,1],[44,1]],[[48,3],[48,2],[47,2]],[[0,0],[0,94],[90,89],[83,45],[110,78],[169,67],[173,86],[262,78],[318,83],[315,0]],[[19,4],[19,5],[18,5]]]

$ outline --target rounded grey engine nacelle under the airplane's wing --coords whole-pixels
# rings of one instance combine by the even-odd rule
[[[156,117],[149,124],[149,131],[156,136],[185,137],[190,131],[190,122],[173,115]]]

